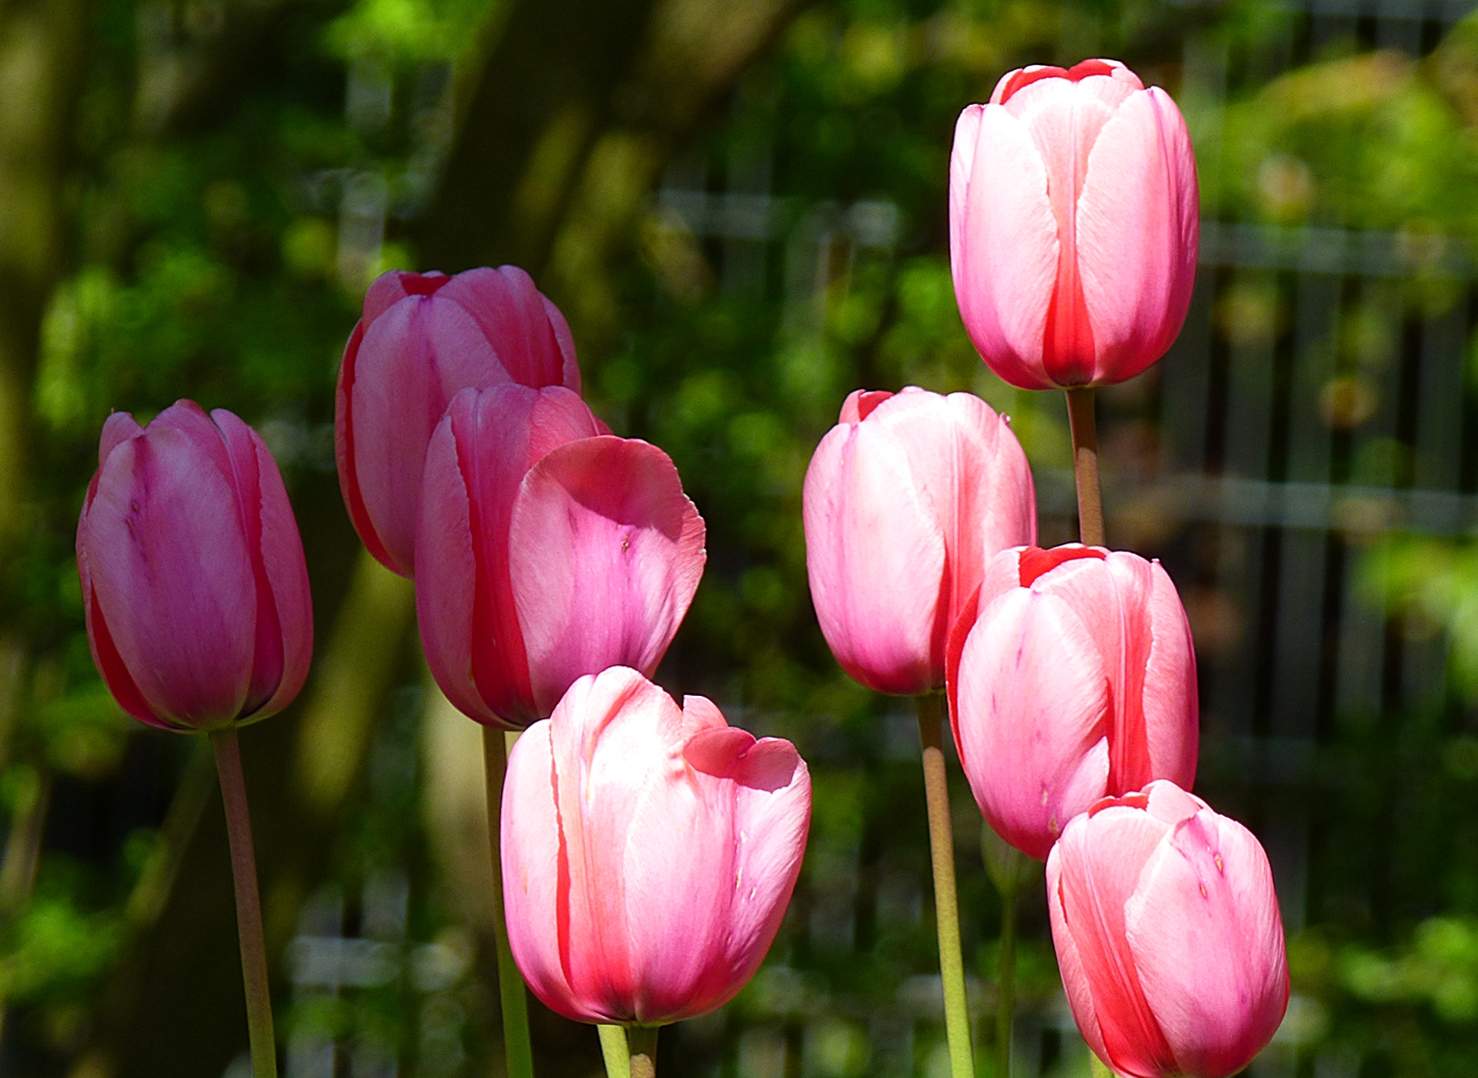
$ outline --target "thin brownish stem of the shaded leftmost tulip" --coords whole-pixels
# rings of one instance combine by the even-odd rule
[[[251,849],[251,812],[241,775],[236,726],[210,732],[220,773],[231,841],[231,877],[236,884],[236,933],[241,938],[241,979],[247,989],[247,1035],[251,1044],[251,1078],[276,1078],[276,1038],[272,1034],[272,997],[268,991],[268,949],[262,935],[262,898],[257,895],[257,858]]]

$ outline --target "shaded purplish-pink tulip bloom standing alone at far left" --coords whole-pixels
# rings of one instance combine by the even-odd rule
[[[276,461],[229,411],[114,413],[77,522],[87,642],[133,717],[174,730],[254,722],[307,677],[313,608]]]

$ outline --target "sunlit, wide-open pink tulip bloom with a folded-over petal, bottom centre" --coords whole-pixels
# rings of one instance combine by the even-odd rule
[[[529,988],[576,1022],[664,1025],[745,985],[791,901],[811,779],[789,741],[636,670],[581,677],[508,759],[503,895]]]

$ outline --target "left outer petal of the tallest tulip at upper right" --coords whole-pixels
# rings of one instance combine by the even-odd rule
[[[950,263],[965,328],[1002,379],[1021,389],[1052,389],[1042,349],[1060,243],[1042,154],[1001,105],[981,108],[975,143],[961,149],[975,152],[964,194],[950,201],[950,234],[962,238]]]

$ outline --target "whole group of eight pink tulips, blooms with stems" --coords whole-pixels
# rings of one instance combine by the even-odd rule
[[[1005,75],[959,118],[949,210],[961,315],[1007,382],[1069,389],[1080,410],[1179,331],[1197,244],[1190,139],[1169,96],[1122,64]],[[415,583],[432,676],[483,726],[504,960],[553,1010],[625,1026],[633,1072],[640,1059],[650,1074],[652,1031],[727,1003],[769,951],[811,790],[791,742],[649,680],[702,577],[705,523],[672,460],[615,436],[579,387],[571,330],[523,271],[386,274],[338,373],[338,479],[368,553]],[[1089,467],[1095,448],[1076,450]],[[1092,507],[1097,476],[1079,482]],[[1196,658],[1165,568],[1097,540],[1038,547],[1008,420],[913,386],[845,399],[806,475],[804,526],[837,661],[925,701],[955,1074],[973,1068],[941,701],[986,822],[1046,861],[1092,1050],[1134,1078],[1242,1069],[1287,1006],[1283,930],[1256,838],[1187,793]],[[216,744],[256,1072],[273,1074],[235,730],[303,686],[312,606],[262,438],[188,401],[148,426],[112,416],[77,565],[120,705]],[[522,732],[511,754],[505,730]],[[500,982],[508,1071],[526,1078],[523,988]]]

